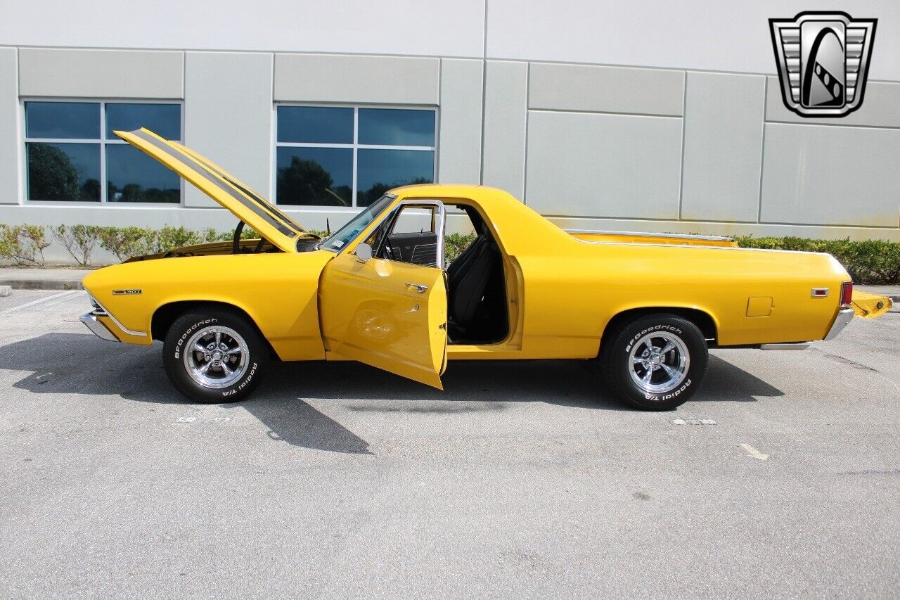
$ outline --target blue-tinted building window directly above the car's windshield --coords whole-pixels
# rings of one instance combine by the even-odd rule
[[[279,105],[276,121],[279,205],[368,206],[435,180],[434,109]]]

